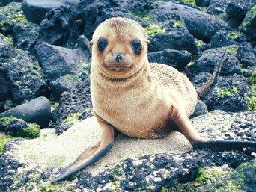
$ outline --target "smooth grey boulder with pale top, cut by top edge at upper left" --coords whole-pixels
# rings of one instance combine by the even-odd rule
[[[77,3],[79,3],[79,0],[24,0],[22,1],[22,9],[29,22],[34,22],[37,25],[40,25],[40,22],[42,22],[43,19],[46,19],[46,13],[48,13],[49,10],[64,5],[72,6]]]

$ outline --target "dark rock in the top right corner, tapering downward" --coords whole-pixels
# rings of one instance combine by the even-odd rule
[[[226,9],[230,19],[238,27],[246,16],[246,12],[256,5],[255,0],[231,0]]]

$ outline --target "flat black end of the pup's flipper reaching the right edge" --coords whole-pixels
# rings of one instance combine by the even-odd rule
[[[195,141],[192,143],[194,149],[213,149],[213,150],[243,150],[249,148],[252,152],[256,151],[255,141],[245,140],[207,140]]]

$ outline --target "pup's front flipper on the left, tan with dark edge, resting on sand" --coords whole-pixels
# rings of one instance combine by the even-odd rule
[[[114,127],[103,120],[98,120],[98,123],[100,125],[100,128],[102,128],[102,136],[100,142],[98,142],[95,146],[86,149],[85,152],[79,155],[76,161],[61,170],[60,175],[57,178],[53,179],[52,182],[59,182],[66,179],[73,173],[76,173],[77,171],[82,170],[88,165],[95,163],[101,157],[103,157],[103,155],[109,152],[110,149],[112,149],[115,137]]]

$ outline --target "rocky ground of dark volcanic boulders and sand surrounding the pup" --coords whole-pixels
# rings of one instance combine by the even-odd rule
[[[227,51],[219,84],[204,99],[210,113],[191,121],[204,137],[255,141],[255,1],[47,2],[0,2],[0,191],[255,191],[255,152],[192,150],[180,134],[118,137],[106,158],[49,183],[100,135],[91,117],[88,42],[113,16],[141,23],[149,60],[185,72],[195,87],[209,80]],[[40,96],[52,113],[44,104],[35,114],[50,117],[49,126],[4,118]]]

